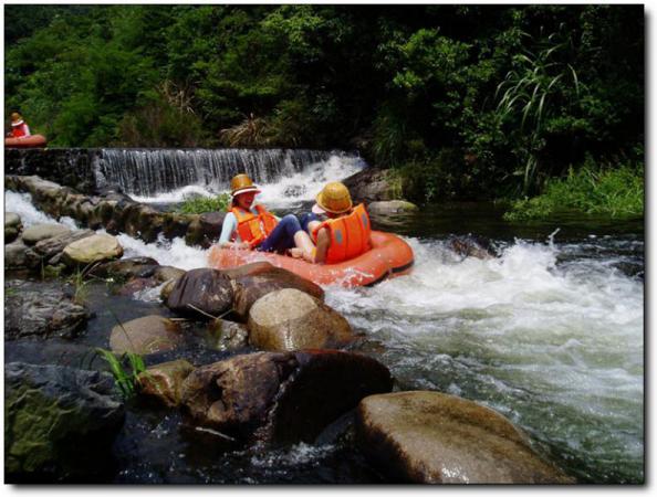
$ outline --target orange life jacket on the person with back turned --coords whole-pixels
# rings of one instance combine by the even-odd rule
[[[336,264],[342,261],[357,257],[367,252],[369,246],[369,215],[361,203],[350,214],[330,219],[313,230],[313,240],[317,243],[317,233],[322,228],[328,230],[331,244],[326,252],[326,264]]]

